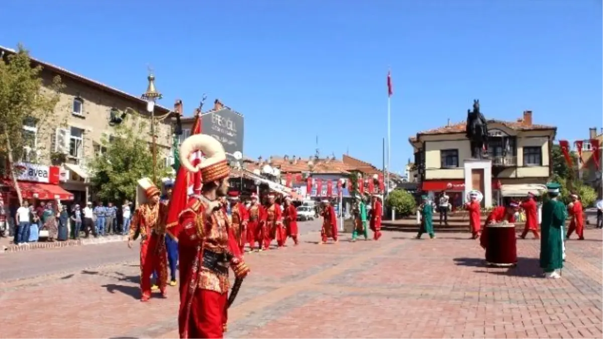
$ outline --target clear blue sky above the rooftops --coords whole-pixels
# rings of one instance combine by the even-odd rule
[[[171,4],[171,5],[170,5]],[[144,92],[187,115],[203,93],[245,115],[245,154],[382,163],[386,76],[394,81],[391,167],[408,137],[466,118],[603,127],[603,0],[21,0],[2,4],[0,45]],[[208,104],[209,106],[209,104]]]

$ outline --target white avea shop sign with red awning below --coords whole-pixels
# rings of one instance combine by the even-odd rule
[[[71,201],[74,195],[59,186],[61,169],[58,166],[37,165],[33,163],[18,163],[14,166],[17,185],[25,200],[58,200]],[[18,204],[13,180],[2,178],[2,191],[8,204]]]

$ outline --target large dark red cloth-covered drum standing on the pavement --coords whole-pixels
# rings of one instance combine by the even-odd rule
[[[488,227],[486,262],[490,265],[517,264],[517,235],[514,224],[491,224]]]

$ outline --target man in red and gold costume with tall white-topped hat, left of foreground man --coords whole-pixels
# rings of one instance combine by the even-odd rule
[[[167,252],[165,247],[165,215],[167,205],[159,203],[161,191],[148,178],[138,180],[138,208],[134,211],[128,235],[132,248],[136,233],[140,236],[140,297],[147,302],[151,297],[151,274],[158,274],[159,290],[166,297],[168,285]]]

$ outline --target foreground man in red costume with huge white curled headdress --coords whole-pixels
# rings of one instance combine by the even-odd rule
[[[203,152],[206,159],[193,166],[189,159],[196,151]],[[177,236],[180,250],[180,338],[221,339],[227,323],[228,268],[235,272],[236,281],[249,273],[219,202],[228,191],[230,168],[222,144],[201,134],[182,142],[180,161],[186,170],[200,171],[203,180],[201,194],[191,197],[177,226],[168,229]],[[178,196],[176,191],[174,196]]]

